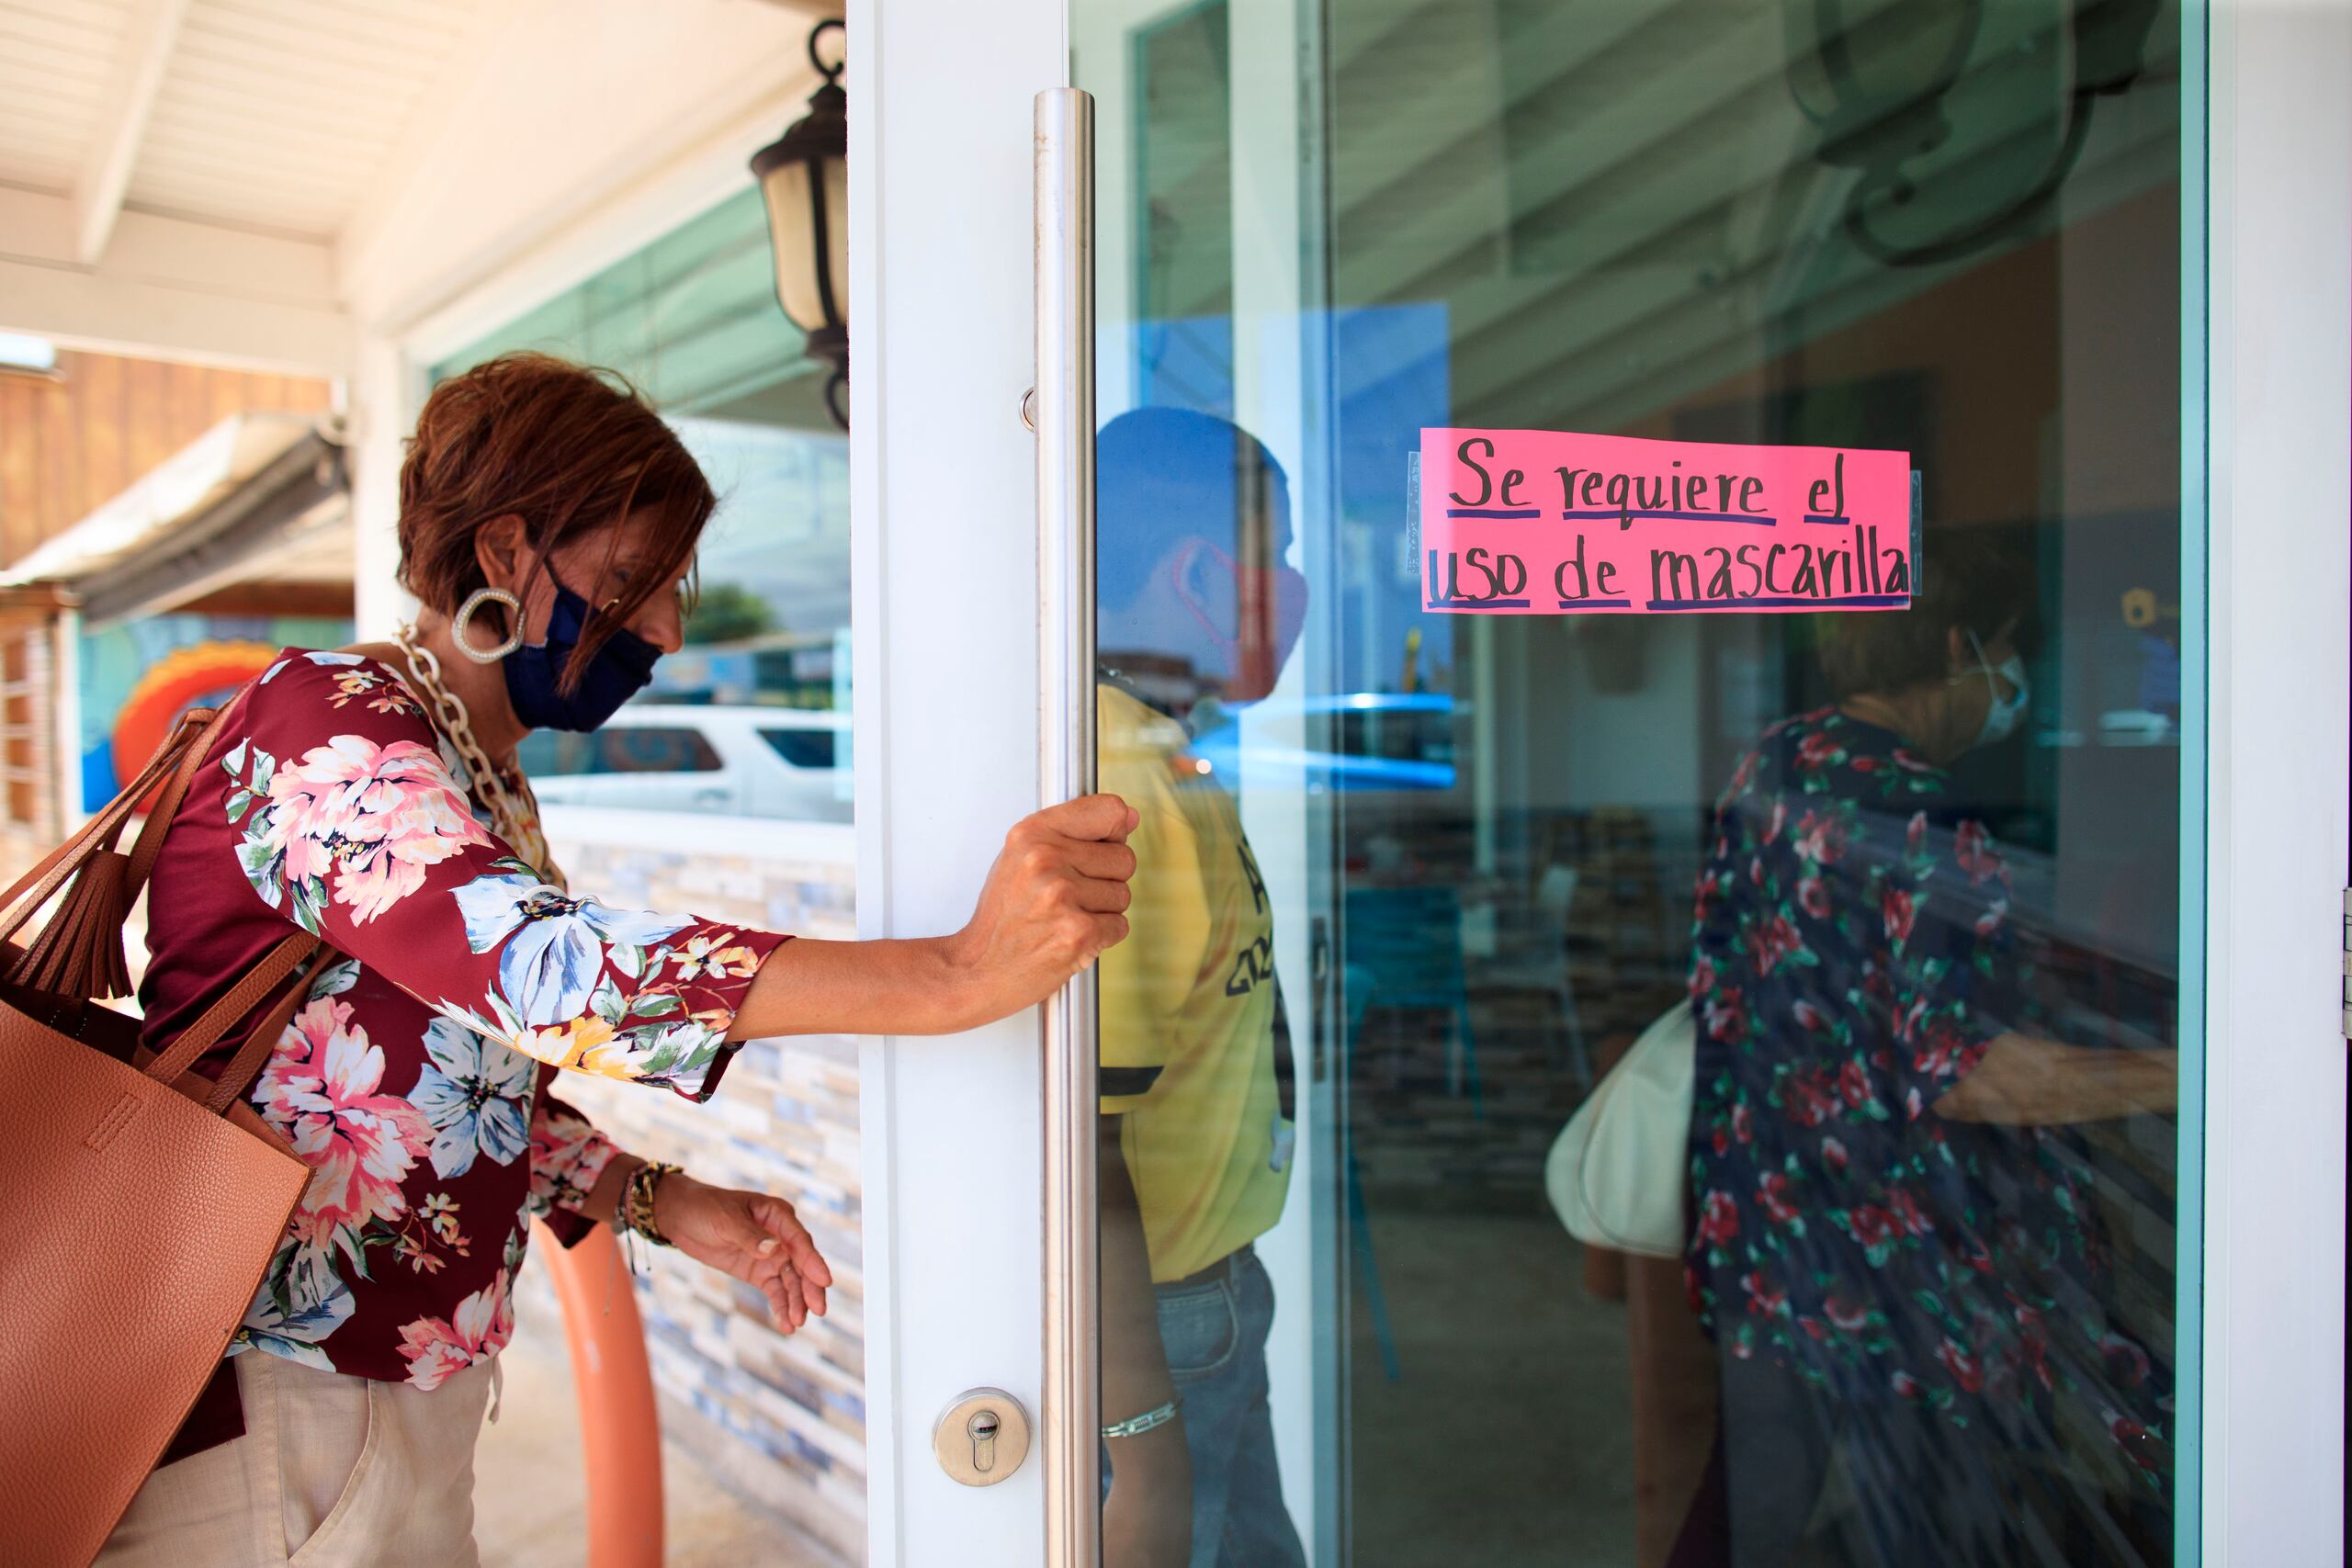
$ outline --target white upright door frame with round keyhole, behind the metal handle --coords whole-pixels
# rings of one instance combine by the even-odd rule
[[[849,538],[863,936],[953,931],[1037,806],[1030,101],[1061,0],[851,0]],[[1033,1458],[967,1490],[931,1425],[1042,1371],[1037,1016],[858,1058],[868,1561],[1037,1568]]]

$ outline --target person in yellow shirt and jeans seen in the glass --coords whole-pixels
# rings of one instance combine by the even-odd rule
[[[1275,914],[1188,717],[1249,703],[1305,581],[1282,470],[1235,425],[1141,409],[1096,440],[1101,788],[1138,813],[1101,964],[1105,1568],[1303,1568],[1275,1465],[1254,1241],[1291,1168]]]

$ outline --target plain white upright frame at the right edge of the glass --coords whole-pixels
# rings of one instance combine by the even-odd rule
[[[2232,1568],[2343,1561],[2347,80],[2352,9],[2213,7],[2211,212],[2183,212],[2211,284],[2199,1495]]]

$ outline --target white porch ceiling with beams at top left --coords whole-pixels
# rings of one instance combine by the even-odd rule
[[[0,331],[350,374],[369,334],[748,181],[835,7],[0,0]]]

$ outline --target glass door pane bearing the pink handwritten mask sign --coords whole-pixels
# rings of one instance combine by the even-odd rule
[[[1103,1561],[2192,1561],[2176,5],[1070,49]]]

